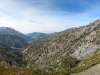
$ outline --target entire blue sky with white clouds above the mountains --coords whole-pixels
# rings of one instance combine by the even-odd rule
[[[100,0],[0,0],[0,27],[60,32],[100,19]]]

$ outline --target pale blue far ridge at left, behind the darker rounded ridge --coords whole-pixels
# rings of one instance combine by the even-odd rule
[[[20,33],[19,31],[15,30],[13,28],[10,28],[10,27],[0,27],[0,34],[17,35],[18,37],[20,37],[26,41],[30,41],[32,39],[30,37],[27,37],[23,33]]]

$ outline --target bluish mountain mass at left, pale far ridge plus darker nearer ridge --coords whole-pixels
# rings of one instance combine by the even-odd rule
[[[9,27],[0,27],[0,45],[8,48],[24,48],[28,46],[29,37]]]

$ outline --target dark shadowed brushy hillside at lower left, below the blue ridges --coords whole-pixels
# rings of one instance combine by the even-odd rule
[[[24,61],[22,54],[9,52],[7,48],[0,46],[0,62],[9,64],[11,66],[25,67],[26,62]]]

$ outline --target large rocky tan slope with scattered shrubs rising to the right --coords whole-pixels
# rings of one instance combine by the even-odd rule
[[[23,51],[29,65],[61,71],[77,63],[85,65],[83,60],[100,53],[100,20],[51,35],[48,40],[36,42]]]

